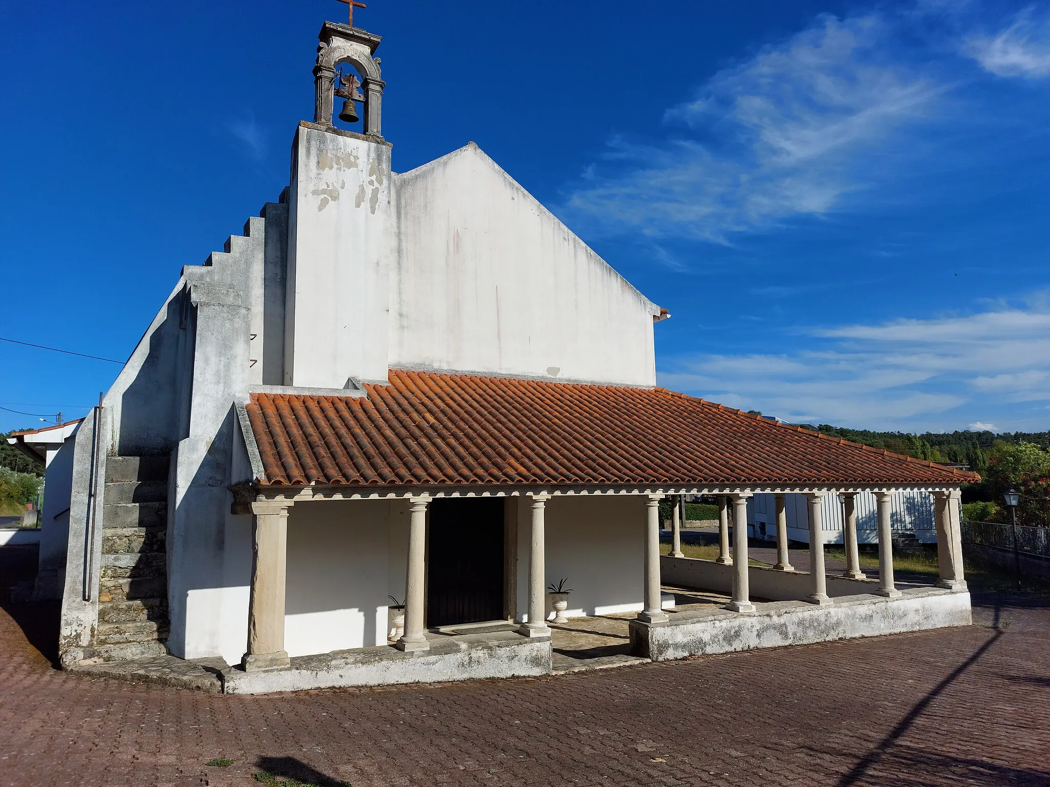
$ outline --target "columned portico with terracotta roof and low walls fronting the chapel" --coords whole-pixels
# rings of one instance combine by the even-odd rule
[[[365,388],[366,397],[345,399],[255,395],[242,411],[253,477],[235,487],[234,511],[252,517],[254,556],[247,651],[227,680],[233,690],[548,673],[547,586],[566,575],[576,591],[570,614],[633,612],[633,647],[652,659],[968,622],[954,505],[964,477],[956,470],[658,388],[396,370],[390,385]],[[937,498],[937,588],[896,587],[888,495],[899,488]],[[861,491],[879,496],[877,582],[857,565],[855,517],[850,529],[849,503]],[[785,538],[775,568],[749,567],[746,527],[733,528],[732,549],[723,527],[717,561],[660,557],[665,496],[715,495],[724,501],[724,525],[730,509],[746,523],[758,492],[777,496],[778,524],[783,495],[805,494],[815,532],[825,506],[846,506],[845,574],[826,575],[819,538],[807,573],[791,567]],[[459,531],[436,528],[435,516],[455,501],[462,510],[474,501],[502,512],[502,522],[485,526],[503,532],[503,549],[489,560],[500,571],[477,563],[470,571],[501,575],[503,602],[482,604],[490,612],[472,617],[435,614],[434,577],[459,561],[448,549]],[[403,550],[388,561],[391,576],[404,576],[403,634],[296,655],[285,637],[289,522],[337,505],[346,516],[376,505],[400,512]],[[324,581],[334,588],[341,578]],[[729,599],[716,613],[675,611],[662,581]],[[958,598],[942,598],[949,596]],[[771,632],[788,632],[786,641]],[[252,678],[278,673],[285,677]]]

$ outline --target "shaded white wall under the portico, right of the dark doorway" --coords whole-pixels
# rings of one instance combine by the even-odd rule
[[[518,506],[518,614],[528,615],[528,557],[531,511]],[[608,615],[643,609],[645,498],[552,497],[545,510],[545,584],[568,577],[569,616]],[[548,617],[552,616],[549,609]]]

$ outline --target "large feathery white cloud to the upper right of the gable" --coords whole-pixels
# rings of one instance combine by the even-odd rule
[[[831,211],[863,187],[862,154],[929,118],[945,89],[891,38],[877,15],[819,18],[670,109],[679,137],[612,140],[566,212],[610,232],[726,241]]]

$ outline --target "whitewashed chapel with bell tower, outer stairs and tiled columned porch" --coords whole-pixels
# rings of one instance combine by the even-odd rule
[[[654,387],[666,310],[476,145],[393,171],[379,38],[320,41],[288,189],[183,269],[81,425],[63,664],[222,659],[235,692],[544,674],[562,576],[570,614],[637,611],[639,653],[704,652],[708,629],[663,609],[669,493],[804,493],[818,519],[828,493],[932,493],[942,589],[850,587],[879,631],[968,620],[947,505],[966,473]],[[358,94],[343,65],[363,133],[333,125]],[[735,550],[732,621],[756,609]],[[822,572],[785,581],[812,601],[797,620],[873,633]]]

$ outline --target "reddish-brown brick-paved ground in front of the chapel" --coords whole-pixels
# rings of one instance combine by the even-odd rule
[[[18,573],[0,558],[0,584]],[[1046,600],[981,598],[965,629],[271,697],[65,675],[29,642],[54,647],[39,613],[0,602],[3,787],[247,787],[261,769],[355,787],[1050,785]]]

